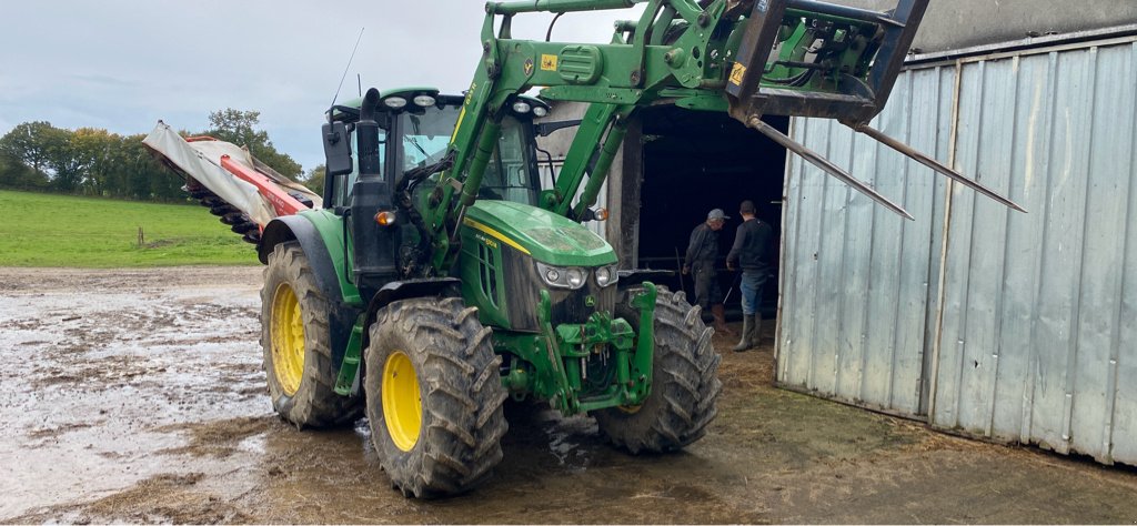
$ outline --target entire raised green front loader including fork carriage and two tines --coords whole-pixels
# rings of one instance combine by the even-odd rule
[[[868,123],[880,112],[929,0],[898,0],[887,12],[816,0],[647,0],[640,18],[619,23],[612,43],[516,40],[513,18],[536,11],[572,12],[631,7],[636,0],[489,2],[482,59],[450,142],[455,162],[430,203],[433,261],[443,273],[456,260],[454,240],[473,204],[496,147],[501,111],[533,86],[553,100],[594,103],[564,172],[542,206],[580,219],[604,181],[628,117],[653,103],[730,115],[840,178],[890,210],[904,209],[848,173],[765,125],[762,116],[836,118],[878,139]],[[705,5],[705,7],[700,7]],[[499,30],[495,33],[495,26]],[[879,140],[879,139],[878,139]],[[1020,209],[979,183],[895,141],[882,141],[985,195]],[[590,172],[581,200],[571,204]],[[457,195],[455,195],[457,193]]]

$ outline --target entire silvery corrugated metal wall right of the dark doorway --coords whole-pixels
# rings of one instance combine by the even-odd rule
[[[916,220],[790,160],[778,379],[1137,464],[1135,78],[1134,39],[901,77],[875,126],[1027,215],[839,124],[797,120],[798,140]]]

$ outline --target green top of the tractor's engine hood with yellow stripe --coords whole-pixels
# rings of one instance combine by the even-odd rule
[[[612,245],[588,227],[529,204],[479,200],[466,210],[463,227],[548,265],[596,267],[616,262]]]

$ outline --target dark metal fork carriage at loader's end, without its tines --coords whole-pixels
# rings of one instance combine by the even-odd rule
[[[899,0],[879,12],[755,0],[727,82],[730,114],[742,123],[765,114],[868,123],[888,101],[928,3]],[[791,35],[803,44],[781,45]]]

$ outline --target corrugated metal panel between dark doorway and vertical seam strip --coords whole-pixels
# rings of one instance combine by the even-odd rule
[[[904,74],[873,125],[945,158],[954,76],[953,68]],[[945,185],[931,170],[869,137],[854,137],[833,120],[797,119],[791,132],[916,220],[790,156],[778,379],[847,402],[918,414]]]

